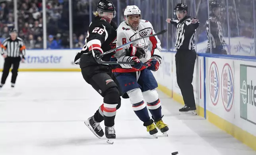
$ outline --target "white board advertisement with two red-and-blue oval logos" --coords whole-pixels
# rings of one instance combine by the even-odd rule
[[[233,60],[206,58],[207,110],[229,122],[235,115],[234,70]]]

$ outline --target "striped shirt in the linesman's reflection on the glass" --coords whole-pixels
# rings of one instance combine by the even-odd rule
[[[209,17],[210,21],[211,19],[213,19],[213,17]],[[211,23],[209,23],[208,20],[206,21],[206,34],[208,38],[207,48],[216,48],[219,46],[223,47],[225,45],[225,40],[222,35],[221,22],[217,18],[215,20],[216,21]]]

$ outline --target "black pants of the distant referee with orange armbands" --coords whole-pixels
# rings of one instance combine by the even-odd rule
[[[8,74],[9,74],[9,70],[12,67],[12,65],[13,65],[13,68],[12,68],[12,81],[11,82],[12,83],[16,82],[20,60],[21,60],[21,57],[7,57],[4,60],[4,69],[3,69],[2,79],[1,79],[2,84],[5,84]]]

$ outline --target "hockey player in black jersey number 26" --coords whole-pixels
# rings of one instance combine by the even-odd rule
[[[104,120],[107,142],[113,144],[112,140],[116,138],[114,118],[116,110],[120,107],[121,98],[118,86],[112,78],[111,66],[98,64],[92,52],[99,55],[116,47],[117,26],[112,21],[116,15],[114,4],[110,0],[100,0],[97,11],[93,14],[95,18],[89,25],[85,45],[76,55],[74,62],[80,64],[85,81],[104,98],[103,104],[85,121],[85,124],[98,138],[101,138],[104,132],[99,123]],[[105,55],[102,60],[110,61],[113,54]]]

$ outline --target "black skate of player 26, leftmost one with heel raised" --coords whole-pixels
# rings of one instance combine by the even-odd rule
[[[98,138],[101,138],[104,135],[101,125],[95,121],[93,116],[88,118],[84,123]]]

